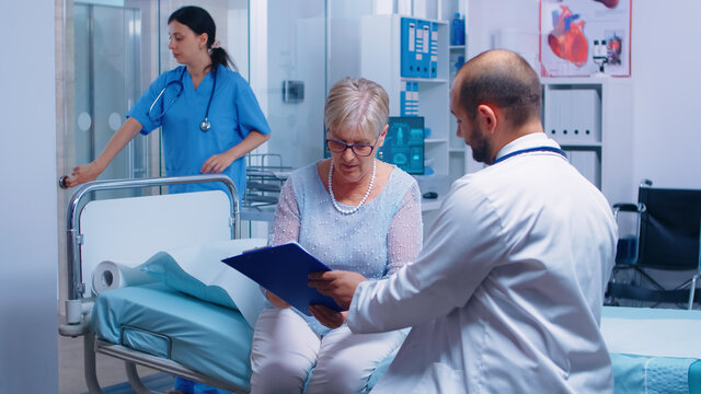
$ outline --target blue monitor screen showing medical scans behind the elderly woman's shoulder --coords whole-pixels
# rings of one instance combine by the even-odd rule
[[[410,174],[424,174],[424,117],[390,116],[378,159]]]

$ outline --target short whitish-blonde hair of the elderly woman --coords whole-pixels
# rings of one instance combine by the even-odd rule
[[[357,128],[379,137],[390,116],[390,99],[378,83],[344,78],[329,91],[324,105],[326,131]]]

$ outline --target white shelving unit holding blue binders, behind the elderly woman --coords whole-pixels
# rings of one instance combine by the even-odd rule
[[[366,15],[360,22],[360,76],[381,84],[390,97],[390,116],[401,115],[401,97],[407,83],[417,86],[418,115],[424,117],[426,175],[416,175],[422,192],[441,197],[449,176],[449,25],[427,21],[437,33],[435,78],[402,77],[402,15]],[[429,131],[428,131],[429,130]],[[428,134],[429,132],[429,134]],[[435,209],[438,200],[424,200],[424,210]]]

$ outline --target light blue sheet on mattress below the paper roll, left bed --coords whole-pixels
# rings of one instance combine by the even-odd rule
[[[249,390],[253,328],[235,310],[163,283],[108,290],[92,311],[95,335]]]

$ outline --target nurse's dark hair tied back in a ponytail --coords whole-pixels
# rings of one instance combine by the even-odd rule
[[[207,11],[195,5],[181,7],[168,18],[168,23],[173,21],[189,27],[196,35],[207,33],[207,49],[209,49],[212,70],[217,70],[219,65],[222,65],[237,71],[237,65],[231,60],[229,54],[217,45],[218,42],[215,39],[217,25],[215,25],[215,20],[211,19]]]

